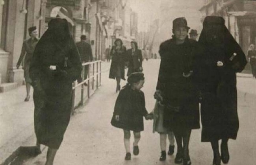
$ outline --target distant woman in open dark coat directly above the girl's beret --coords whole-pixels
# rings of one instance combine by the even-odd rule
[[[131,49],[127,50],[128,58],[128,72],[127,76],[133,72],[142,72],[142,53],[138,49],[138,45],[135,41],[131,42]]]

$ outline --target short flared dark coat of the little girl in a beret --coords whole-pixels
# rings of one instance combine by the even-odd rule
[[[140,132],[144,130],[143,116],[147,114],[144,93],[127,86],[117,97],[111,124],[124,130]],[[120,116],[120,121],[115,120],[115,115]]]

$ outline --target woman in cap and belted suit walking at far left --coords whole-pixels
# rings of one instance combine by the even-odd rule
[[[29,99],[30,99],[31,79],[30,79],[30,76],[29,76],[29,68],[30,68],[31,59],[33,57],[33,52],[35,50],[35,46],[37,45],[37,42],[38,42],[37,27],[32,26],[32,27],[28,28],[28,33],[30,35],[30,38],[23,42],[20,57],[19,57],[19,60],[17,62],[17,65],[16,65],[17,69],[19,69],[20,63],[23,61],[23,58],[25,56],[24,65],[23,65],[24,78],[25,78],[25,82],[26,82],[26,92],[27,92],[26,98],[24,100],[25,102],[28,102]]]

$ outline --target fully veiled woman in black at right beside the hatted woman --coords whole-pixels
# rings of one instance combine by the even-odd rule
[[[211,142],[213,164],[228,163],[228,139],[236,139],[237,116],[236,72],[247,61],[245,54],[224,25],[224,19],[208,16],[204,19],[199,43],[205,48],[200,62],[202,93],[202,142]],[[221,141],[221,156],[219,140]]]

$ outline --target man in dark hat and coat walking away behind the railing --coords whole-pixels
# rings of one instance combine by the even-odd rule
[[[76,43],[78,52],[80,54],[81,62],[87,63],[89,61],[93,61],[93,52],[91,50],[91,45],[86,42],[86,35],[81,35],[80,37],[81,41]],[[84,66],[84,80],[87,79],[89,70],[89,65]],[[78,83],[82,82],[82,76],[78,78]],[[87,83],[83,83],[83,85],[87,86]]]

